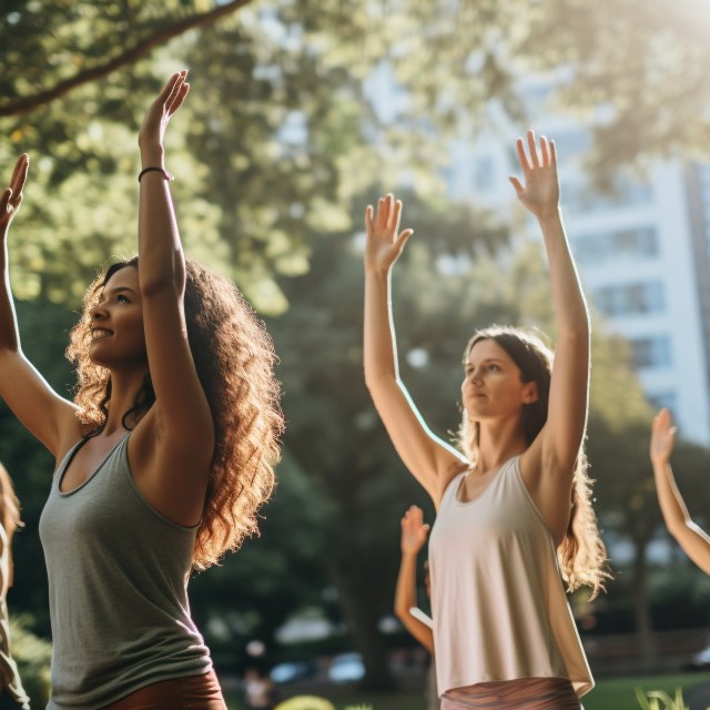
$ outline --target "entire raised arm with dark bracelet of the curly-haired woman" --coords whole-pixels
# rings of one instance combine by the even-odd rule
[[[190,85],[174,74],[148,109],[139,133],[141,161],[139,283],[155,405],[154,466],[162,511],[196,521],[214,449],[214,426],[187,342],[185,258],[165,170],[164,134]],[[158,170],[154,170],[158,169]],[[149,419],[146,417],[146,419]]]

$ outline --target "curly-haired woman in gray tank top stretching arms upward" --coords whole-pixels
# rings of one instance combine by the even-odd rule
[[[68,349],[74,402],[22,354],[3,252],[0,396],[57,459],[40,520],[51,710],[225,710],[187,579],[255,529],[274,483],[271,338],[231,282],[185,262],[173,213],[163,138],[185,78],[143,120],[139,255],[89,287]],[[3,237],[28,164],[0,201]]]

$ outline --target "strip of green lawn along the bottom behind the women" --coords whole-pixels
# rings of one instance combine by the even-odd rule
[[[629,678],[612,678],[597,681],[595,689],[582,698],[585,710],[640,710],[636,700],[636,688],[642,690],[665,690],[670,696],[676,688],[689,690],[693,686],[710,683],[710,676],[706,673],[683,673],[674,676],[632,676]],[[426,702],[423,693],[358,693],[353,690],[333,688],[327,696],[337,710],[346,707],[366,706],[372,710],[425,710]],[[242,703],[236,696],[226,693],[230,710],[242,710]]]

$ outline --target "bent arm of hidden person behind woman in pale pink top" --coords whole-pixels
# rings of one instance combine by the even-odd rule
[[[395,613],[404,628],[434,655],[434,632],[409,611],[417,606],[417,555],[428,534],[429,526],[424,523],[422,508],[412,506],[402,518],[402,564],[395,590]]]

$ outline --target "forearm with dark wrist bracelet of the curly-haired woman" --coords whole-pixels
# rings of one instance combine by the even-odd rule
[[[142,168],[165,168],[161,145],[141,145]],[[169,182],[160,171],[143,174],[139,207],[139,276],[141,291],[184,288],[185,263]]]

